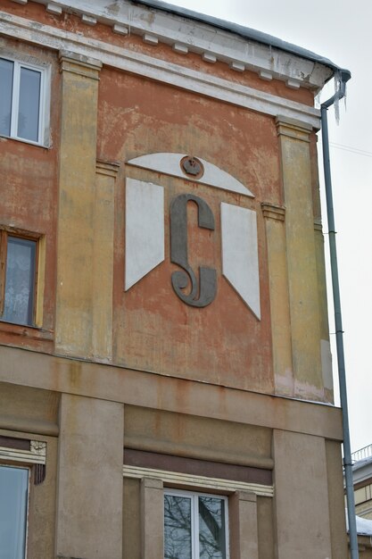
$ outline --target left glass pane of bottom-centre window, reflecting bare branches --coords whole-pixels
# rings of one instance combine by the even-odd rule
[[[164,495],[164,558],[192,559],[191,499]]]

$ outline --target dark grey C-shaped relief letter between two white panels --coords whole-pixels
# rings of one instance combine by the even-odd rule
[[[198,206],[198,225],[214,230],[214,217],[210,206],[199,196],[181,194],[170,205],[170,262],[178,264],[183,271],[172,273],[172,286],[178,297],[191,306],[210,305],[217,293],[217,272],[212,268],[199,268],[199,285],[187,257],[187,202]],[[191,283],[186,295],[185,289]]]

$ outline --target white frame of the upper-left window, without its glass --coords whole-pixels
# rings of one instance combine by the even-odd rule
[[[2,53],[0,58],[11,62],[13,66],[12,78],[12,109],[11,109],[11,130],[10,135],[1,134],[3,138],[12,138],[32,144],[34,146],[47,147],[49,142],[49,111],[50,111],[50,65],[49,64],[34,64],[28,61],[14,58],[12,55]],[[28,138],[21,138],[18,136],[18,115],[20,103],[20,81],[21,81],[21,68],[37,71],[40,73],[40,97],[39,97],[39,113],[38,113],[38,140],[30,140]]]

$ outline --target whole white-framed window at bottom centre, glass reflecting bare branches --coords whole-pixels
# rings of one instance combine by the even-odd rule
[[[228,559],[227,497],[165,490],[164,559]]]

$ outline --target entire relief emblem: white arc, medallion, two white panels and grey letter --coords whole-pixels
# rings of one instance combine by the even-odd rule
[[[147,154],[128,165],[222,188],[253,197],[252,192],[226,171],[207,161],[185,154]],[[126,291],[165,259],[164,187],[137,179],[127,179],[126,186]],[[197,204],[198,226],[215,229],[210,206],[199,196],[182,194],[169,208],[170,262],[182,270],[173,271],[172,287],[186,305],[204,307],[217,295],[217,271],[200,266],[197,272],[188,263],[188,202]],[[260,275],[258,259],[257,216],[253,210],[234,204],[220,204],[222,275],[260,320]],[[192,248],[190,247],[190,250]]]

